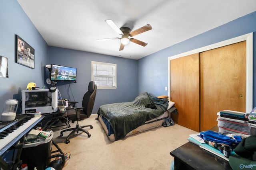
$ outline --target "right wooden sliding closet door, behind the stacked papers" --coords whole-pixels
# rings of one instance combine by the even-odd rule
[[[200,131],[217,125],[217,112],[246,111],[246,41],[200,53]]]

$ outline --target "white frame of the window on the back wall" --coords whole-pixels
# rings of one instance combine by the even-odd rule
[[[115,85],[114,86],[100,86],[98,84],[96,84],[95,80],[94,80],[94,64],[99,64],[99,65],[106,65],[106,66],[110,66],[110,67],[113,67],[114,68],[114,76],[111,76],[111,77],[114,77],[114,82],[115,82]],[[97,85],[97,89],[116,89],[117,88],[117,82],[116,82],[116,72],[117,72],[117,69],[116,69],[116,64],[113,64],[113,63],[103,63],[103,62],[98,62],[98,61],[91,61],[91,80],[95,82],[95,84]]]

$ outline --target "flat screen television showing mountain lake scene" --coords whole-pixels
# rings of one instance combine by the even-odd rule
[[[76,82],[76,68],[51,64],[51,80],[68,80]]]

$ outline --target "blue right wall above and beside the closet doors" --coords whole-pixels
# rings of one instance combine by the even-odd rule
[[[168,57],[251,32],[254,32],[253,75],[255,75],[256,12],[253,12],[138,60],[138,93],[148,91],[155,96],[168,95],[168,91],[164,90],[164,87],[168,86]],[[254,78],[254,107],[256,106],[255,81]]]

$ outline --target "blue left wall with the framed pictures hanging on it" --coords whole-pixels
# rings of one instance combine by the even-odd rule
[[[15,63],[15,34],[35,49],[35,69]],[[21,99],[28,82],[44,86],[44,68],[48,63],[48,45],[16,0],[0,1],[0,55],[8,58],[9,78],[0,78],[0,112],[8,99]]]

